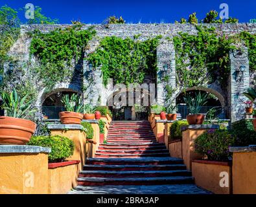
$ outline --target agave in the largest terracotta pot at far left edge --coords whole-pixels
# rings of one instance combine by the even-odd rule
[[[0,144],[27,144],[36,130],[36,124],[26,119],[36,112],[32,100],[26,102],[27,95],[19,97],[16,89],[3,92],[2,98],[7,116],[0,116]]]

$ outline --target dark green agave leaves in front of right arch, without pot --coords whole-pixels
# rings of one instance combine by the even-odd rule
[[[191,114],[199,114],[200,109],[207,103],[207,94],[196,94],[195,97],[187,96],[183,98],[185,103],[189,106]]]

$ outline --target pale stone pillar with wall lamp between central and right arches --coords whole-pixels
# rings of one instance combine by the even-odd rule
[[[172,89],[176,88],[176,65],[175,65],[174,45],[170,41],[162,39],[157,47],[157,104],[169,105],[166,100],[167,91],[165,86],[168,84]],[[167,71],[165,71],[167,69]],[[165,79],[165,77],[168,77]],[[175,98],[172,97],[175,102]]]

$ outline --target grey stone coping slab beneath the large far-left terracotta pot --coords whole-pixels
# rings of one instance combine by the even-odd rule
[[[0,145],[0,153],[51,153],[51,148],[29,145]]]

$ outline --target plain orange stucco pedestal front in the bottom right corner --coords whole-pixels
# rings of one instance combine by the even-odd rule
[[[233,193],[256,194],[256,152],[233,153]]]

